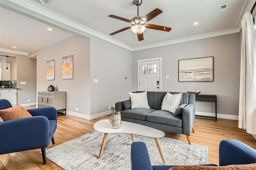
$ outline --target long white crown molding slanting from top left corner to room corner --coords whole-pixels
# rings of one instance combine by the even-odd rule
[[[114,43],[120,47],[132,51],[132,47],[122,43],[114,38],[106,36],[100,32],[90,29],[82,24],[79,24],[73,20],[70,20],[60,14],[57,14],[51,10],[48,10],[30,0],[1,0],[2,7],[17,12],[19,14],[28,16],[29,18],[39,20],[47,24],[54,24],[57,28],[62,28],[72,32],[73,34],[79,34],[91,38],[92,36],[98,37],[102,40],[106,40],[110,43]]]

